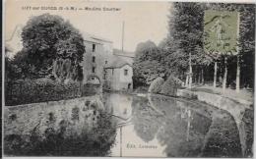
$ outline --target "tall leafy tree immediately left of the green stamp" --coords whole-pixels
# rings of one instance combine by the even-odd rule
[[[169,16],[167,66],[171,69],[178,67],[183,72],[189,68],[186,76],[186,80],[190,81],[189,87],[192,83],[192,66],[197,64],[198,57],[204,58],[198,56],[204,54],[203,9],[200,3],[173,3]]]

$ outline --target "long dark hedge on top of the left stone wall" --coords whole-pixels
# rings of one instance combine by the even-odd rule
[[[6,83],[6,105],[56,101],[81,96],[79,82],[62,83],[51,79],[19,79]]]

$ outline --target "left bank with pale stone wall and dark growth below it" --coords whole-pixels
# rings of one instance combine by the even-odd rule
[[[97,95],[5,107],[4,116],[11,156],[106,156],[116,133]]]

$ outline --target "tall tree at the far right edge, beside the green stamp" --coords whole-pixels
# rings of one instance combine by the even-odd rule
[[[237,56],[236,90],[240,87],[240,69],[246,83],[254,86],[254,54],[255,54],[255,5],[244,4],[239,7],[240,32],[239,56]],[[248,81],[249,80],[249,81]]]

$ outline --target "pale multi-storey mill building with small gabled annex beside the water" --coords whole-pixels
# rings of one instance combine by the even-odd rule
[[[104,84],[111,90],[132,90],[132,56],[113,49],[110,40],[83,33],[86,52],[82,62],[83,83]]]

